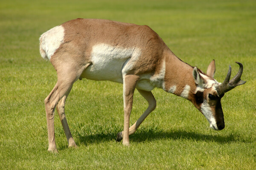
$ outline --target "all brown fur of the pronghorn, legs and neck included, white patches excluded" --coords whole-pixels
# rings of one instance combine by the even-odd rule
[[[73,83],[77,79],[85,77],[83,74],[85,69],[93,64],[91,62],[91,52],[94,45],[105,43],[113,47],[136,47],[141,50],[141,54],[136,62],[133,63],[132,68],[128,70],[126,75],[123,75],[124,131],[118,133],[117,140],[123,139],[124,145],[129,145],[129,135],[135,132],[146,116],[156,107],[156,101],[151,91],[138,89],[140,94],[148,101],[148,108],[137,122],[129,128],[129,118],[136,85],[140,81],[140,77],[145,74],[151,76],[162,74],[163,63],[165,63],[166,68],[164,70],[164,78],[163,80],[160,79],[160,82],[164,82],[165,91],[169,91],[175,85],[176,90],[174,94],[180,96],[185,86],[189,85],[190,89],[187,99],[200,111],[202,99],[196,100],[195,98],[203,97],[208,99],[207,95],[214,93],[212,88],[210,88],[201,94],[196,94],[197,85],[192,76],[193,67],[177,58],[157,33],[148,26],[99,19],[70,20],[61,26],[64,28],[64,40],[50,58],[50,62],[57,71],[58,80],[51,93],[45,99],[49,151],[58,152],[54,135],[55,107],[57,107],[69,146],[76,147],[67,124],[64,105]],[[46,51],[41,47],[40,50],[42,57],[45,58]],[[202,71],[198,71],[203,74]],[[207,70],[209,79],[213,79],[214,72],[215,62],[213,61]],[[220,99],[216,101],[208,100],[208,104],[214,113],[222,112]],[[222,115],[214,116],[218,118],[217,121],[219,122],[223,119],[223,113]]]

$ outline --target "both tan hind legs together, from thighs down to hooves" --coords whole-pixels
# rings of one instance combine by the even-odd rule
[[[55,65],[55,69],[58,75],[58,81],[55,87],[52,89],[51,93],[44,100],[46,118],[47,118],[48,140],[49,140],[48,151],[58,152],[56,148],[55,132],[54,132],[54,111],[56,106],[57,106],[58,115],[61,119],[61,124],[64,128],[64,132],[67,137],[68,145],[69,147],[76,147],[76,143],[70,133],[70,129],[67,124],[64,106],[65,106],[65,101],[67,99],[67,96],[70,93],[74,82],[76,82],[76,80],[79,79],[79,77],[81,76],[81,73],[91,64],[92,62],[87,62],[85,65],[82,65],[81,67],[80,66],[74,67],[72,65],[65,65],[65,67],[63,67],[62,65]]]

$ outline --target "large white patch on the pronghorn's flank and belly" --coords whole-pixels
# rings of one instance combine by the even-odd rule
[[[139,57],[138,48],[122,48],[108,44],[94,45],[91,52],[93,64],[84,71],[83,77],[122,83],[123,75],[132,69]]]

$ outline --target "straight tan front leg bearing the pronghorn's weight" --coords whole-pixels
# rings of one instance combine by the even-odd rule
[[[124,134],[123,145],[129,145],[129,122],[132,109],[134,90],[137,85],[139,76],[125,75],[123,78],[123,98],[124,98]]]

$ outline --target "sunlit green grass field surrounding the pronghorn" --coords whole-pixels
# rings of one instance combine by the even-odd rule
[[[47,152],[44,99],[56,82],[38,38],[74,18],[103,18],[156,31],[183,61],[206,71],[216,61],[222,82],[239,61],[247,81],[222,99],[226,127],[214,131],[189,101],[154,89],[157,108],[130,136],[123,127],[122,85],[83,79],[67,98],[78,149],[67,147],[58,116],[59,154]],[[256,1],[0,0],[0,169],[256,169]],[[131,124],[147,103],[136,91]]]

